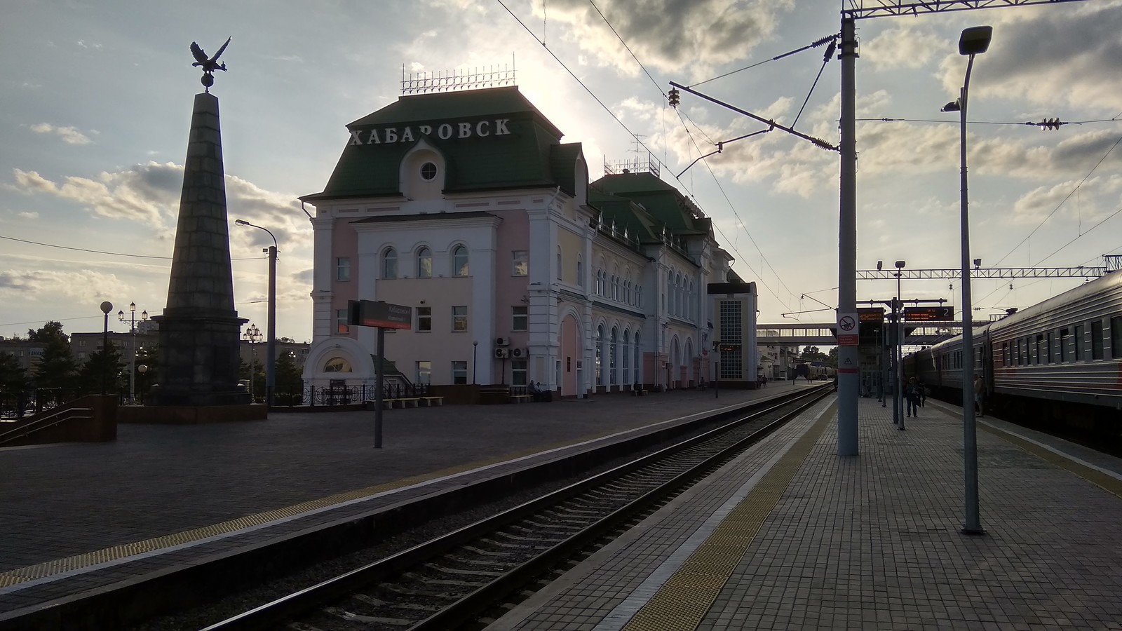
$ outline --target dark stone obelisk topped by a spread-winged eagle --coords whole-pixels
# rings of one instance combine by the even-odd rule
[[[218,64],[226,45],[209,60],[196,44],[191,49],[206,91],[195,94],[191,116],[167,307],[153,318],[159,323],[160,353],[155,404],[248,404],[249,394],[238,385],[241,324],[247,320],[233,309],[222,136],[218,98],[210,93],[213,72],[226,70]]]

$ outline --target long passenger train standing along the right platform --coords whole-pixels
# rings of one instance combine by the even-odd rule
[[[1122,272],[974,330],[986,409],[1122,435]],[[904,373],[962,401],[963,338],[904,358]]]

